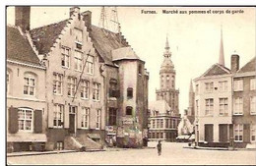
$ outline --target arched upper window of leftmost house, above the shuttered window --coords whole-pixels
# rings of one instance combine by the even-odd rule
[[[35,78],[32,74],[26,74],[24,77],[24,94],[34,95],[35,93]]]

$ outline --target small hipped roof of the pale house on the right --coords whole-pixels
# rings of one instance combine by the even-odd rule
[[[209,70],[207,70],[201,77],[211,77],[218,75],[228,75],[230,74],[230,70],[225,68],[220,64],[213,65]]]

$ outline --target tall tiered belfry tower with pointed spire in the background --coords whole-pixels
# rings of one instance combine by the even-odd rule
[[[163,62],[160,66],[160,89],[157,89],[157,100],[165,100],[176,115],[179,114],[179,91],[175,89],[174,65],[171,61],[171,52],[169,51],[168,38],[166,37],[163,52]]]

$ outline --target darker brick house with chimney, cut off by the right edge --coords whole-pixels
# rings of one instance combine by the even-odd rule
[[[236,72],[233,76],[233,135],[234,145],[246,147],[254,143],[256,137],[256,58],[239,69],[239,56],[232,55],[233,66]]]

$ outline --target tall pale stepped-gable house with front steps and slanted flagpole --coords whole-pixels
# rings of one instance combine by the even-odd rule
[[[30,30],[47,69],[49,149],[100,148],[104,142],[104,76],[88,15],[74,7],[69,19]]]

